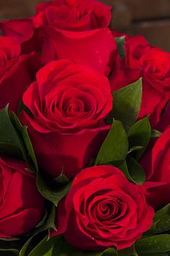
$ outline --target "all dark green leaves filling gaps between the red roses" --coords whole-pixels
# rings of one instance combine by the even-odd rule
[[[123,59],[125,38],[117,38],[117,48]],[[117,166],[130,182],[143,184],[146,176],[138,159],[143,154],[151,137],[160,133],[151,130],[149,116],[137,121],[142,98],[142,80],[138,80],[113,93],[113,111],[107,117],[111,125],[109,134],[99,150],[95,165]],[[8,111],[8,106],[0,110],[0,155],[19,158],[28,163],[37,176],[37,187],[46,198],[46,215],[30,234],[17,239],[0,239],[0,255],[6,256],[168,256],[170,255],[170,205],[158,210],[151,230],[144,234],[133,247],[120,250],[109,248],[104,252],[83,252],[71,247],[63,237],[49,237],[50,229],[55,229],[55,208],[67,195],[71,181],[61,173],[57,179],[38,170],[35,153],[28,136],[27,127],[20,124],[17,116]]]

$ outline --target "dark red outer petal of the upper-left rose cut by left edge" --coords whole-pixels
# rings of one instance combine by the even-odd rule
[[[22,100],[24,91],[30,86],[40,67],[40,59],[37,54],[21,56],[17,64],[6,73],[0,82],[0,108],[9,103],[10,110],[17,113],[18,104]]]

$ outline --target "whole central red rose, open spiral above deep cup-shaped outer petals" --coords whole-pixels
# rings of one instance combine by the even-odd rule
[[[107,77],[70,60],[51,61],[37,72],[24,93],[24,111],[40,167],[53,176],[72,178],[97,155],[109,130],[112,109]]]

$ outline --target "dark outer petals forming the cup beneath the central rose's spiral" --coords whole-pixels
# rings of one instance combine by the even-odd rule
[[[73,178],[80,169],[87,166],[91,158],[97,155],[109,126],[97,129],[84,129],[76,134],[60,132],[37,132],[32,128],[32,120],[22,112],[22,123],[28,125],[28,131],[35,149],[40,168],[57,177],[63,173]]]

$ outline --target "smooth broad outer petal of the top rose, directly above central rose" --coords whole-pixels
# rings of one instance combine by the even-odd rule
[[[106,75],[111,71],[117,48],[115,38],[108,28],[77,33],[47,27],[44,33],[43,62],[67,58]]]

